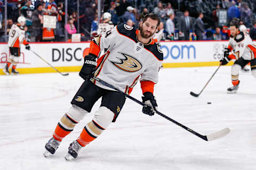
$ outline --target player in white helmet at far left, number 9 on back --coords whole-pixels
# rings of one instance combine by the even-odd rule
[[[3,71],[5,74],[9,75],[9,67],[12,65],[12,71],[11,74],[19,74],[18,71],[16,71],[16,66],[20,60],[20,44],[26,45],[26,49],[30,49],[30,46],[28,42],[25,40],[25,30],[24,26],[26,24],[26,19],[24,16],[20,16],[18,18],[18,23],[13,24],[12,28],[9,32],[9,40],[8,40],[8,46],[10,49],[10,57],[8,58],[8,61],[6,63],[6,66],[4,67]]]

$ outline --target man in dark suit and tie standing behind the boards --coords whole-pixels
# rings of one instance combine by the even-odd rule
[[[184,16],[180,17],[179,20],[179,37],[181,40],[189,40],[190,30],[193,30],[194,34],[194,24],[192,18],[189,16],[188,10],[184,12]]]

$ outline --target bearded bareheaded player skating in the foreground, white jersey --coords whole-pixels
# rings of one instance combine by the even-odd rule
[[[151,38],[159,25],[156,14],[145,14],[140,29],[129,25],[117,25],[105,35],[95,36],[90,44],[89,55],[79,75],[85,80],[71,101],[69,111],[59,121],[52,138],[46,143],[44,156],[55,153],[60,142],[73,131],[75,125],[91,112],[95,102],[102,97],[101,105],[91,122],[87,123],[79,137],[70,143],[67,160],[77,158],[79,150],[96,139],[111,122],[115,122],[125,103],[125,96],[118,91],[103,86],[92,77],[113,84],[119,90],[130,94],[140,80],[142,101],[147,106],[142,112],[150,116],[157,109],[153,95],[158,81],[158,71],[162,65],[163,53]],[[107,52],[97,61],[101,49]]]

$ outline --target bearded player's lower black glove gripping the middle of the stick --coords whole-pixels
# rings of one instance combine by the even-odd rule
[[[142,96],[142,102],[147,106],[143,106],[142,113],[153,116],[155,112],[157,112],[155,96],[151,94],[151,92],[145,92],[143,95],[144,96]]]

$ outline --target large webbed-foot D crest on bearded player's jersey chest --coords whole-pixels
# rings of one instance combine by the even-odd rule
[[[130,73],[137,72],[142,69],[142,64],[137,58],[126,53],[122,53],[122,52],[118,52],[118,53],[121,54],[123,58],[116,57],[119,61],[109,60],[109,62],[113,64],[115,67],[117,67],[122,71],[130,72]]]

